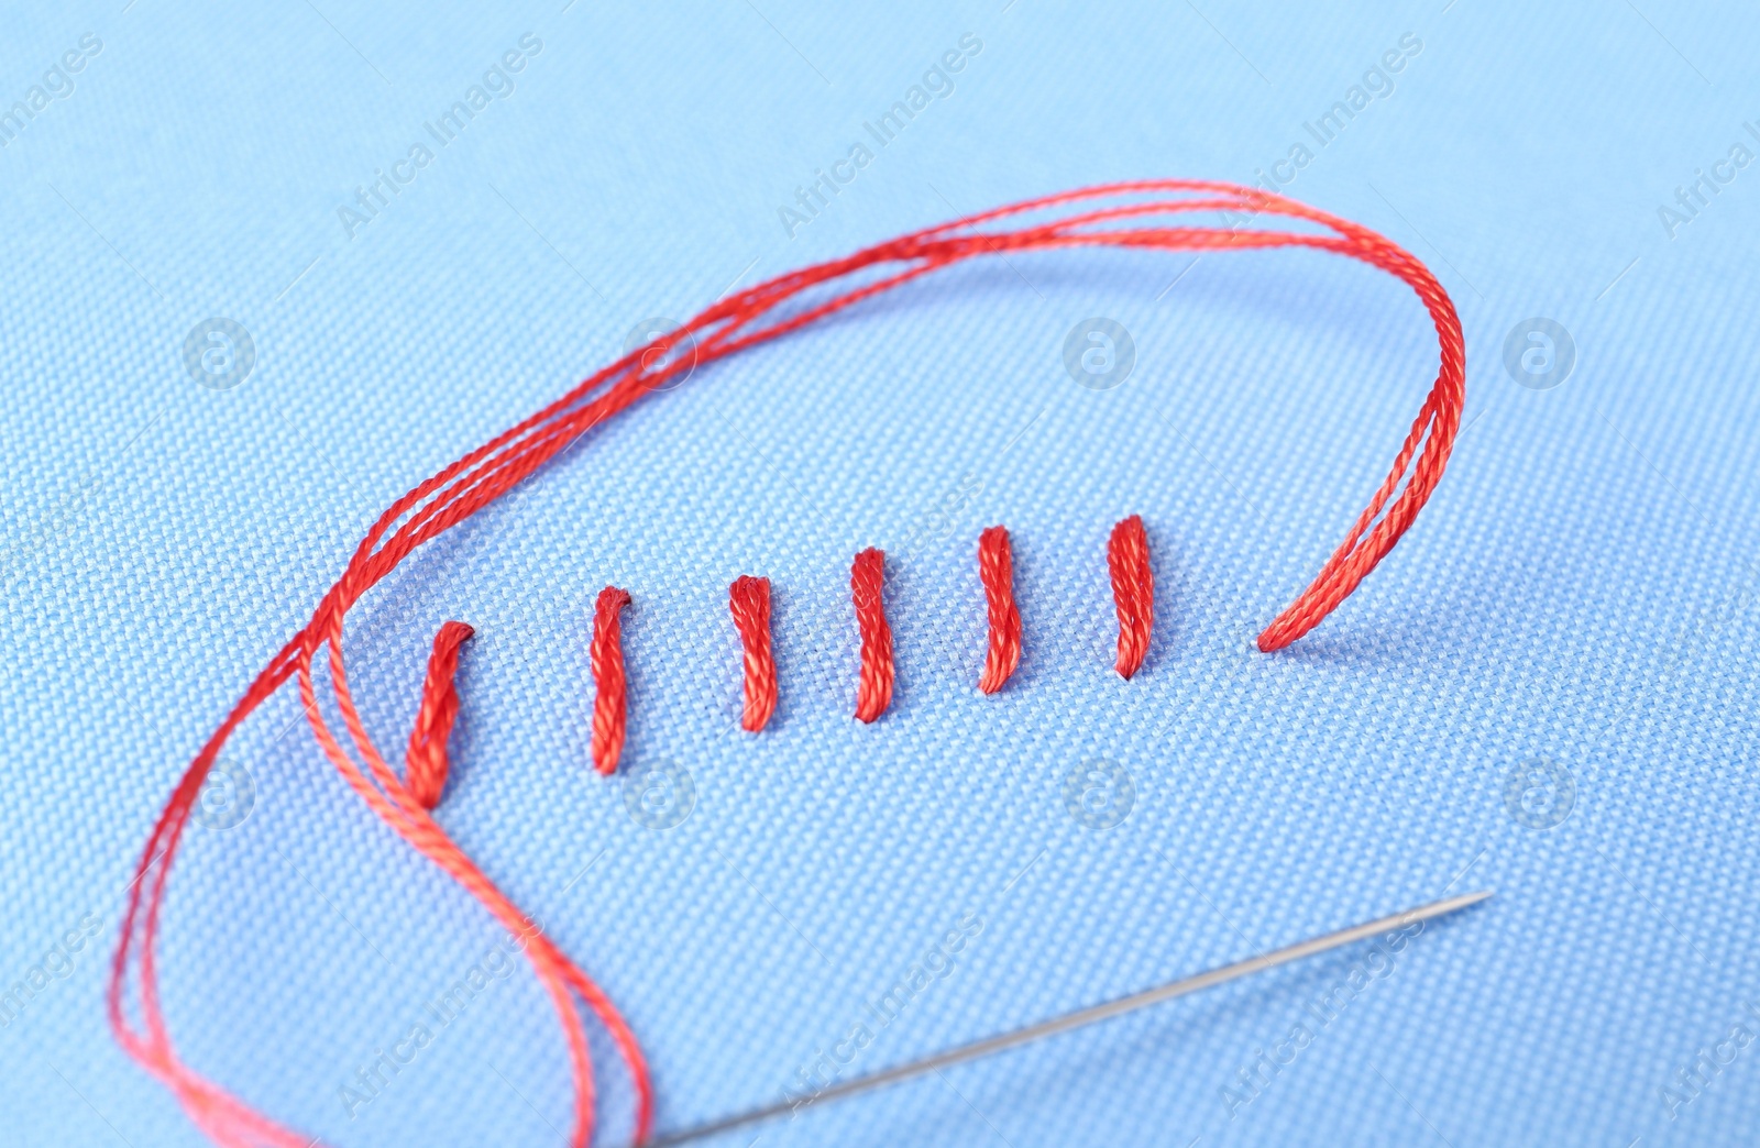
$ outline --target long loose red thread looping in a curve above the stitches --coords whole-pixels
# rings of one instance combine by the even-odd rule
[[[1012,231],[987,229],[1010,217],[1049,213],[1054,208],[1102,197],[1130,197],[1130,202],[1091,208]],[[1140,227],[1126,225],[1130,220],[1144,217],[1209,211],[1237,217],[1236,225],[1176,227],[1165,218]],[[1302,220],[1316,229],[1267,231],[1250,225],[1258,217]],[[380,514],[356,548],[343,574],[319,600],[306,625],[259,671],[225,720],[185,768],[141,849],[106,986],[109,1025],[123,1051],[165,1083],[190,1120],[216,1143],[252,1146],[271,1143],[308,1148],[308,1136],[262,1116],[183,1063],[160,1009],[157,965],[160,910],[171,868],[176,863],[178,847],[202,782],[238,727],[294,678],[299,681],[299,695],[306,706],[306,720],[313,736],[350,789],[414,849],[475,896],[503,926],[523,928],[526,917],[519,907],[435,824],[403,782],[384,764],[384,757],[366,736],[347,690],[341,655],[343,614],[415,548],[495,502],[572,442],[685,372],[788,335],[862,299],[966,259],[1007,257],[1010,252],[1070,247],[1183,252],[1304,247],[1348,255],[1396,275],[1424,303],[1440,349],[1440,370],[1429,396],[1369,505],[1357,516],[1350,534],[1308,590],[1258,636],[1258,648],[1267,651],[1283,648],[1313,629],[1387,556],[1417,518],[1441,479],[1461,428],[1461,407],[1466,401],[1466,342],[1461,333],[1461,319],[1436,276],[1404,248],[1368,227],[1260,188],[1206,180],[1139,180],[994,208],[952,224],[887,239],[841,259],[778,275],[720,299],[685,324],[681,329],[697,340],[695,356],[644,359],[646,349],[632,350],[532,417],[429,475]],[[845,276],[862,275],[871,268],[880,271],[866,275],[866,282],[859,287],[788,306],[803,292]],[[766,319],[769,319],[767,326]],[[341,748],[326,717],[319,711],[312,659],[324,646],[329,646],[331,694],[371,780]],[[648,1063],[628,1025],[591,979],[554,944],[539,937],[526,946],[526,956],[556,1005],[568,1048],[576,1097],[570,1144],[574,1148],[588,1144],[595,1116],[593,1067],[577,1002],[593,1011],[623,1056],[635,1090],[635,1141],[646,1139],[653,1122],[653,1086]],[[128,998],[130,970],[136,974],[134,1000]],[[137,1005],[139,1021],[130,1016],[128,1004]]]

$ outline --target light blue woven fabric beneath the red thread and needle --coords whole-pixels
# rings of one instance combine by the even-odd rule
[[[0,1143],[201,1143],[106,1030],[123,882],[392,498],[644,319],[1026,195],[1255,181],[1295,144],[1311,162],[1285,190],[1434,268],[1470,352],[1440,491],[1299,646],[1251,639],[1422,401],[1419,303],[1318,254],[1023,255],[704,368],[412,558],[350,622],[368,720],[401,747],[435,629],[477,627],[440,817],[625,1007],[665,1130],[778,1099],[859,1023],[845,1074],[1485,887],[1396,954],[1359,946],[762,1143],[1753,1141],[1760,1046],[1730,1034],[1760,1034],[1760,167],[1714,167],[1760,151],[1749,5],[479,7],[5,7],[0,100],[30,114],[0,132],[0,982],[65,975],[0,1028]],[[519,70],[484,81],[507,53]],[[950,92],[924,79],[943,53]],[[1385,53],[1399,70],[1366,79]],[[65,97],[30,109],[37,85]],[[442,144],[473,85],[510,90]],[[882,146],[864,125],[913,85],[945,95]],[[1322,125],[1353,85],[1383,95]],[[394,169],[417,143],[431,160]],[[780,210],[855,143],[871,162],[790,236]],[[412,181],[350,225],[380,171]],[[1705,202],[1677,199],[1700,173]],[[231,389],[199,384],[241,349],[197,331],[211,317],[253,345]],[[1109,391],[1063,366],[1089,317],[1135,343]],[[1524,333],[1505,366],[1533,317],[1575,347],[1551,389],[1515,382],[1545,382]],[[1158,622],[1125,683],[1104,544],[1130,512]],[[986,699],[991,523],[1014,532],[1026,655]],[[889,555],[898,634],[873,727],[850,718],[861,546]],[[734,727],[744,572],[776,586],[760,738]],[[695,787],[664,831],[588,768],[607,583],[635,597],[627,759]],[[282,736],[296,718],[287,692],[232,743],[250,815],[192,828],[176,870],[181,1051],[331,1144],[560,1143],[563,1046],[523,967],[350,1116],[357,1069],[505,942],[303,727]],[[1112,829],[1065,806],[1091,761],[1132,778]],[[1570,815],[1529,828],[1563,789],[1522,778],[1566,775]],[[961,923],[950,961],[929,956]],[[945,975],[878,1025],[924,960]],[[1308,1005],[1357,967],[1322,1023]],[[1294,1062],[1246,1090],[1297,1025]],[[1702,1049],[1732,1060],[1686,1090]],[[598,1053],[621,1143],[628,1088]]]

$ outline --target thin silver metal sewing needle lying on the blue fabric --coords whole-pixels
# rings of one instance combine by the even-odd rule
[[[1299,961],[1304,956],[1315,956],[1316,953],[1338,949],[1339,946],[1348,946],[1353,940],[1368,940],[1369,937],[1375,937],[1376,933],[1382,933],[1385,930],[1404,928],[1408,924],[1417,924],[1419,921],[1441,917],[1450,912],[1466,909],[1468,905],[1477,905],[1487,896],[1491,896],[1489,891],[1463,893],[1461,896],[1450,896],[1441,901],[1420,905],[1419,909],[1408,909],[1406,912],[1396,912],[1378,921],[1353,924],[1336,933],[1327,933],[1325,937],[1315,937],[1313,940],[1302,940],[1294,946],[1287,946],[1283,949],[1272,949],[1271,953],[1251,956],[1244,961],[1236,961],[1234,965],[1223,965],[1221,968],[1211,968],[1209,972],[1200,972],[1193,977],[1184,977],[1183,981],[1174,981],[1170,984],[1162,984],[1158,988],[1144,990],[1140,993],[1132,993],[1130,997],[1119,997],[1118,1000],[1109,1000],[1105,1004],[1077,1009],[1075,1012],[1065,1012],[1063,1016],[1054,1016],[1049,1021],[1038,1021],[1037,1025],[1028,1025],[1026,1028],[1016,1028],[1014,1032],[1005,1032],[996,1037],[973,1041],[972,1044],[961,1044],[959,1048],[947,1049],[945,1053],[935,1053],[933,1056],[924,1056],[922,1060],[912,1060],[910,1063],[901,1063],[896,1069],[885,1069],[880,1072],[871,1072],[868,1076],[857,1076],[854,1079],[831,1085],[829,1088],[815,1095],[811,1100],[804,1100],[799,1106],[783,1100],[780,1104],[771,1104],[769,1108],[752,1109],[750,1113],[739,1113],[737,1116],[725,1116],[722,1120],[697,1125],[695,1129],[672,1132],[671,1136],[662,1136],[658,1139],[648,1141],[648,1148],[671,1148],[672,1144],[685,1144],[697,1139],[708,1139],[709,1136],[720,1136],[722,1132],[727,1132],[730,1129],[759,1123],[764,1120],[774,1120],[776,1116],[787,1116],[788,1113],[796,1111],[796,1108],[806,1108],[808,1104],[822,1104],[825,1100],[850,1097],[855,1095],[857,1092],[869,1092],[873,1088],[894,1085],[898,1081],[910,1079],[913,1076],[922,1076],[926,1072],[935,1072],[936,1069],[945,1069],[954,1063],[977,1060],[979,1056],[989,1056],[991,1053],[1000,1053],[1008,1048],[1019,1048],[1021,1044],[1028,1044],[1042,1037],[1054,1037],[1058,1034],[1065,1034],[1074,1028],[1082,1028],[1084,1025],[1096,1025],[1100,1021],[1112,1019],[1114,1016],[1123,1016],[1125,1012],[1135,1012],[1137,1009],[1146,1009],[1149,1005],[1162,1004],[1163,1000],[1172,1000],[1174,997],[1197,993],[1199,990],[1227,984],[1228,981],[1236,981],[1253,972],[1264,972],[1267,968],[1276,968],[1278,965],[1288,965],[1290,961]]]

